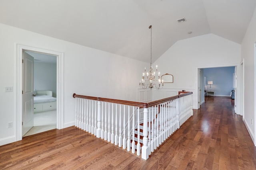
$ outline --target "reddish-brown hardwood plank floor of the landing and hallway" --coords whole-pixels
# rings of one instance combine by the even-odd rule
[[[209,96],[148,160],[68,127],[1,146],[0,169],[255,170],[256,147],[234,100]]]

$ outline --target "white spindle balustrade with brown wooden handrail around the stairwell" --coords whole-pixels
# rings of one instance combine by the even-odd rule
[[[145,160],[193,115],[192,93],[154,102],[155,105],[134,102],[134,106],[132,102],[75,97],[76,127],[133,154],[137,150],[136,154]]]

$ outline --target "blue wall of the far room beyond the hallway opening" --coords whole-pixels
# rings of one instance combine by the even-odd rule
[[[206,77],[207,89],[210,89],[208,81],[213,81],[212,90],[215,90],[216,96],[230,96],[233,88],[233,73],[235,67],[217,67],[217,68],[203,68],[204,76]]]

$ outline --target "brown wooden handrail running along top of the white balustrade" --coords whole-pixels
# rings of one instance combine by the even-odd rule
[[[83,95],[78,95],[78,94],[73,94],[73,98],[83,98],[83,99],[90,99],[90,100],[98,100],[98,101],[102,101],[102,102],[110,102],[110,103],[116,103],[116,104],[124,104],[124,105],[129,105],[129,106],[136,106],[136,107],[140,107],[140,108],[148,108],[151,106],[155,106],[157,104],[161,104],[164,102],[168,102],[170,100],[174,100],[183,96],[187,96],[192,94],[192,92],[186,92],[184,94],[180,94],[180,95],[176,95],[176,96],[172,96],[169,98],[164,98],[164,99],[160,99],[160,100],[156,100],[153,102],[149,102],[149,103],[142,103],[142,102],[132,102],[132,101],[127,101],[127,100],[117,100],[117,99],[109,99],[109,98],[98,98],[98,97],[92,97],[92,96],[83,96]]]

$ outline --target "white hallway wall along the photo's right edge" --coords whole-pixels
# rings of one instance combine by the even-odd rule
[[[256,10],[250,21],[242,42],[242,58],[244,58],[244,123],[255,142],[255,61],[254,61],[254,43],[256,42]],[[251,123],[253,120],[253,123]]]

